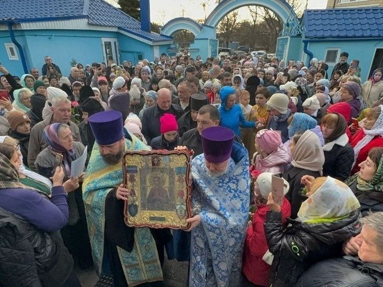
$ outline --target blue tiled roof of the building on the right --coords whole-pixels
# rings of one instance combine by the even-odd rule
[[[305,10],[305,38],[383,37],[383,8]]]

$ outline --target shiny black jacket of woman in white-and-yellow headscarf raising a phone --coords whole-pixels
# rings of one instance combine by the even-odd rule
[[[294,286],[312,264],[340,256],[343,241],[360,232],[359,216],[359,211],[354,211],[346,218],[325,223],[288,219],[291,225],[282,232],[281,214],[267,212],[265,235],[274,255],[270,277],[272,286]]]

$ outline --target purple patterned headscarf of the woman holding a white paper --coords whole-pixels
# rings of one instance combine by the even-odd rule
[[[58,129],[61,123],[54,123],[44,128],[43,139],[47,142],[48,148],[54,153],[63,155],[65,174],[70,177],[70,164],[74,161],[75,155],[73,149],[67,150],[60,144]]]

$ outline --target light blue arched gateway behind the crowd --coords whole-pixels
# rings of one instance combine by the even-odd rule
[[[206,59],[210,56],[218,56],[218,40],[216,39],[217,25],[221,19],[228,13],[232,12],[235,9],[241,8],[243,6],[262,6],[264,8],[272,10],[281,21],[286,23],[291,23],[290,30],[284,32],[285,34],[291,34],[291,27],[299,26],[297,16],[285,0],[223,0],[218,4],[218,6],[208,15],[204,24],[200,24],[197,21],[186,18],[179,17],[173,20],[170,20],[161,28],[161,34],[171,36],[175,32],[185,29],[193,33],[196,38],[194,43],[190,45],[190,54],[194,58],[197,55],[200,55],[202,59]],[[297,25],[298,23],[298,25]],[[295,31],[293,31],[295,33]],[[288,35],[290,36],[290,35]],[[277,44],[277,52],[280,53],[280,58],[285,58],[287,55],[284,55],[289,49],[289,42],[285,39],[281,39]]]

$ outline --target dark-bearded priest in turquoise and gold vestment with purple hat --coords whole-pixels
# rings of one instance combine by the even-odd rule
[[[112,274],[114,286],[161,284],[161,263],[149,228],[128,227],[123,220],[129,192],[122,184],[123,153],[148,147],[132,133],[124,138],[120,111],[95,113],[88,122],[95,144],[83,182],[83,199],[96,272],[100,277]]]

